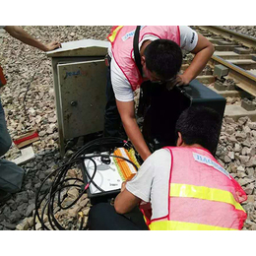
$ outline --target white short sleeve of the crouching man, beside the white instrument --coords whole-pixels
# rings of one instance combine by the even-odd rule
[[[142,199],[145,202],[150,202],[151,199],[151,187],[155,175],[155,155],[151,155],[144,161],[137,174],[132,180],[126,184],[126,189]]]

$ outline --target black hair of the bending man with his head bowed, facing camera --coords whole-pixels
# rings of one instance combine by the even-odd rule
[[[167,39],[152,41],[144,51],[146,67],[155,72],[161,80],[177,75],[182,64],[182,51],[179,45]]]

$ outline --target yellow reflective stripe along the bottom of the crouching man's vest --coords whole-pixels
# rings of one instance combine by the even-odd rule
[[[149,226],[151,230],[238,230],[210,224],[192,224],[174,221],[158,221]]]

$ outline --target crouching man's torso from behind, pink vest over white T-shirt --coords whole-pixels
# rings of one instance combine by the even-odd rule
[[[210,152],[166,148],[146,163],[126,189],[151,202],[150,228],[241,229],[246,214],[237,193],[246,195]]]

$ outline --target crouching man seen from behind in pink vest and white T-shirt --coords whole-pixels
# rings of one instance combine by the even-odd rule
[[[123,219],[125,227],[116,229],[144,229],[127,217],[140,205],[151,230],[241,229],[247,216],[240,203],[247,196],[213,157],[220,122],[219,114],[210,108],[183,111],[176,123],[177,147],[166,147],[150,156],[124,185],[111,212],[103,212],[103,207],[111,206],[96,206],[111,223],[99,226],[93,208],[90,228],[111,229],[122,224],[116,220]]]

